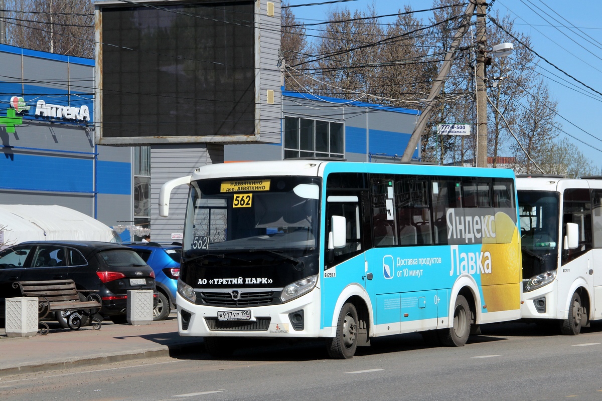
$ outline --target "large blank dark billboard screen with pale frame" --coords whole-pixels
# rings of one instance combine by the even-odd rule
[[[259,141],[269,104],[259,106],[258,10],[252,0],[97,2],[97,143]]]

